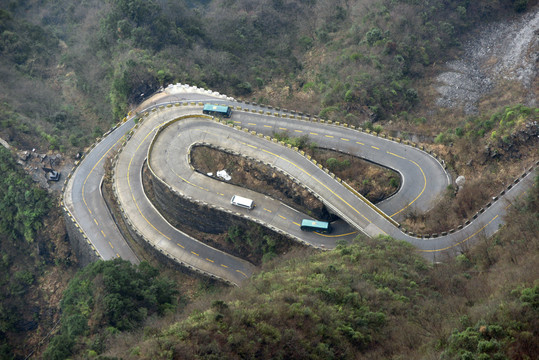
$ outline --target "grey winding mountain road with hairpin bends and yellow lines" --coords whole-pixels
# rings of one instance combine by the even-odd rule
[[[218,122],[202,115],[202,102],[226,103],[236,110],[228,123]],[[146,160],[153,175],[180,196],[237,213],[312,246],[332,249],[337,239],[351,239],[358,231],[368,236],[387,234],[412,243],[431,260],[462,251],[479,234],[490,236],[496,232],[511,201],[532,183],[532,176],[527,175],[462,229],[434,238],[417,238],[403,233],[396,226],[397,221],[407,210],[424,212],[430,209],[451,180],[433,156],[414,146],[338,124],[309,121],[295,113],[240,104],[223,95],[185,85],[167,88],[158,104],[139,111],[139,114],[145,112],[137,125],[133,118],[125,121],[82,160],[65,187],[66,210],[103,259],[122,257],[138,262],[100,193],[103,164],[113,149],[121,149],[113,180],[127,223],[175,261],[236,285],[248,278],[255,267],[170,225],[144,193],[141,168]],[[320,147],[394,169],[402,177],[402,186],[377,208],[352,193],[345,183],[308,157],[270,138],[273,133],[282,131],[290,135],[308,135]],[[304,214],[260,193],[193,171],[187,154],[197,144],[211,144],[257,159],[292,177],[348,224],[337,226],[336,232],[342,236],[302,232],[299,223],[306,217]],[[230,198],[234,194],[253,199],[256,208],[249,211],[232,206]]]

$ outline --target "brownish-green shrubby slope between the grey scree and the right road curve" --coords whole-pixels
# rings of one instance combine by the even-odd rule
[[[410,212],[406,226],[419,233],[433,233],[448,231],[468,220],[501,191],[504,183],[513,180],[504,175],[508,167],[520,164],[521,173],[526,167],[526,154],[532,159],[539,154],[533,125],[538,120],[539,108],[519,104],[468,117],[459,126],[439,133],[434,142],[449,149],[444,158],[450,170],[468,175],[471,166],[474,172],[481,166],[486,169],[458,191],[456,186],[449,187],[428,213]]]

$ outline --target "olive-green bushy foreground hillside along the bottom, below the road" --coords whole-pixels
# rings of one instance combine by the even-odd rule
[[[532,359],[539,351],[538,214],[539,175],[512,206],[508,218],[518,221],[443,264],[426,263],[404,242],[360,237],[335,251],[278,260],[242,288],[201,299],[134,334],[117,333],[123,322],[98,330],[86,320],[78,327],[93,323],[98,334],[116,334],[99,348],[112,358]],[[104,294],[83,296],[89,314],[102,313],[103,296],[111,296],[108,283],[124,282],[125,275],[114,280],[107,272]],[[101,283],[90,274],[96,272],[75,278],[70,289],[88,286],[83,279]],[[65,317],[77,314],[68,305],[73,299],[73,291],[64,298]],[[123,318],[129,314],[137,312]],[[103,335],[77,337],[84,332],[70,333],[69,324],[59,336],[79,350],[77,357],[95,356],[92,344]],[[66,342],[53,340],[45,354]]]

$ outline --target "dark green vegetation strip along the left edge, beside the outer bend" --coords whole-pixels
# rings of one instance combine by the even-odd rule
[[[51,201],[47,192],[33,184],[2,146],[0,174],[0,358],[3,358],[10,353],[8,339],[20,337],[28,327],[36,325],[23,312],[31,308],[28,293],[42,273],[40,262],[46,260],[37,253],[40,241],[36,237]],[[34,311],[37,316],[38,310]]]

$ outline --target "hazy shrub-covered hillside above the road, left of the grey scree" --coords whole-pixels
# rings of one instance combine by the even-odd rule
[[[479,20],[527,3],[10,2],[0,13],[0,132],[76,150],[174,82],[374,121],[413,109],[414,82]]]

